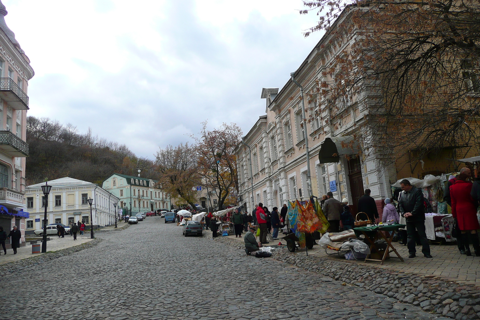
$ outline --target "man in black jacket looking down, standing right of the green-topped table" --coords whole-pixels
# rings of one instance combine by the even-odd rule
[[[432,258],[430,254],[430,245],[425,234],[425,206],[423,203],[423,192],[412,186],[410,181],[403,179],[400,181],[402,192],[398,199],[400,214],[405,217],[407,224],[407,247],[408,258],[415,258],[415,229],[418,231],[422,245],[421,252],[425,258]]]

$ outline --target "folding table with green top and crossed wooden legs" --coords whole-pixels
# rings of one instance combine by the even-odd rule
[[[387,258],[387,255],[390,252],[390,248],[391,248],[392,251],[395,252],[396,254],[396,257],[392,257],[392,258],[398,258],[400,259],[400,261],[403,262],[403,258],[398,254],[398,252],[396,252],[396,249],[392,246],[393,236],[395,235],[395,232],[397,232],[399,228],[405,228],[405,225],[400,225],[400,224],[372,225],[372,226],[362,226],[362,227],[354,228],[353,231],[355,231],[355,235],[357,237],[360,236],[360,234],[363,234],[365,238],[368,239],[368,241],[370,242],[370,252],[372,252],[372,249],[376,249],[377,251],[380,251],[375,245],[375,240],[384,239],[387,243],[387,248],[385,249],[382,259],[372,259],[371,258],[372,253],[370,253],[365,258],[365,261],[367,260],[381,261],[380,264],[384,264],[384,261]],[[390,237],[387,238],[385,237],[382,231],[391,232],[392,234],[390,235]]]

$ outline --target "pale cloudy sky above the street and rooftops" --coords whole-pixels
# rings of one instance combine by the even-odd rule
[[[319,40],[301,0],[2,0],[31,60],[28,115],[154,158],[201,122],[246,133]]]

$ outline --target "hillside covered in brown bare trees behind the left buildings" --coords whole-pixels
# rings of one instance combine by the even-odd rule
[[[112,173],[156,178],[154,163],[137,157],[124,144],[81,134],[72,124],[49,118],[27,118],[27,185],[70,177],[100,184]]]

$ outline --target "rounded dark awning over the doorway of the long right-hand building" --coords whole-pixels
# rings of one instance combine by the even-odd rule
[[[353,141],[352,136],[325,138],[320,145],[318,160],[320,163],[339,162],[340,156],[358,152],[354,149],[358,149],[358,142]]]

